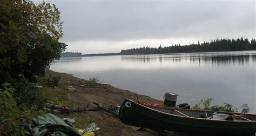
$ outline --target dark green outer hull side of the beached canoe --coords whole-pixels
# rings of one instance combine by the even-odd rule
[[[127,102],[131,103],[130,105]],[[159,112],[125,99],[120,111],[120,120],[132,126],[189,133],[233,133],[252,134],[256,132],[255,121],[224,121],[173,116]]]

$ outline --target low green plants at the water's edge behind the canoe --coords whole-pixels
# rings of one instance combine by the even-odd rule
[[[225,105],[213,105],[211,106],[212,98],[206,98],[206,99],[200,99],[200,102],[198,104],[195,104],[193,106],[193,109],[196,110],[211,110],[211,111],[226,111],[226,112],[238,112],[237,108],[234,108],[232,104],[226,103]],[[200,105],[203,104],[203,108],[200,107]],[[242,105],[242,113],[249,113],[250,108],[248,104]]]

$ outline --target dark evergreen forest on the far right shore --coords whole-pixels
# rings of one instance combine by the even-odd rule
[[[125,49],[120,52],[121,55],[125,54],[157,54],[157,53],[185,53],[185,52],[219,52],[219,51],[244,51],[244,50],[256,50],[255,39],[249,41],[247,38],[238,39],[215,39],[210,42],[204,41],[203,44],[183,45],[175,44],[169,47],[151,48],[146,46],[146,48],[133,48]]]

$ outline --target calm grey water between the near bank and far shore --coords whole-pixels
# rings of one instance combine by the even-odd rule
[[[84,79],[98,74],[104,83],[160,100],[176,92],[177,104],[211,97],[241,111],[247,103],[256,113],[256,51],[62,58],[51,69]]]

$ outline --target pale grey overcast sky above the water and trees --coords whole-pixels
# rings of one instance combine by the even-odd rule
[[[216,38],[255,38],[255,1],[46,1],[61,12],[67,52],[117,53]]]

